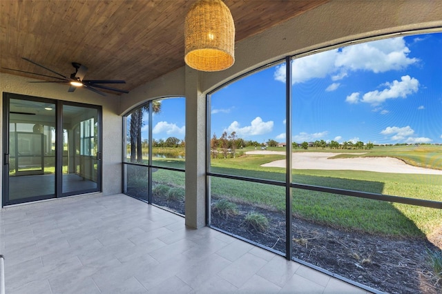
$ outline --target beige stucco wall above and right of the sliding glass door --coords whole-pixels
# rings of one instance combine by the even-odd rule
[[[61,84],[30,84],[33,79],[8,75],[0,72],[0,92],[12,92],[35,97],[45,97],[84,104],[100,105],[103,109],[103,194],[112,195],[122,192],[122,144],[115,144],[122,138],[122,119],[117,114],[119,97],[102,97],[86,89],[68,92],[68,86]],[[0,126],[3,124],[3,103],[0,105]],[[3,134],[0,134],[3,136]],[[3,140],[3,137],[1,137]],[[1,176],[2,170],[0,170]],[[1,183],[0,183],[1,184]],[[1,188],[1,186],[0,186]]]

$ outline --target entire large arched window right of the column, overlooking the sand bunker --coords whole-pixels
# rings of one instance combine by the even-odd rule
[[[211,92],[210,226],[367,290],[434,285],[441,51],[442,33],[378,39]]]

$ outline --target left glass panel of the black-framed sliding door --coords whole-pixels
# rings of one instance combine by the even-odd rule
[[[10,99],[9,119],[8,200],[54,197],[55,104]]]

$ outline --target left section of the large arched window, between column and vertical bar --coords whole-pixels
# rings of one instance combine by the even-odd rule
[[[210,226],[286,253],[285,86],[278,65],[262,68],[210,96]],[[277,136],[269,134],[279,130]]]

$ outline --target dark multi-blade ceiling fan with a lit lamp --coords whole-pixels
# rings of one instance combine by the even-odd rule
[[[58,79],[59,81],[29,81],[28,83],[63,83],[63,84],[69,84],[69,90],[68,92],[74,92],[76,88],[78,87],[84,87],[90,91],[96,92],[99,95],[106,96],[106,94],[100,90],[97,90],[95,88],[100,88],[104,90],[111,90],[115,92],[120,93],[128,93],[126,90],[120,90],[117,88],[111,88],[108,86],[103,86],[102,84],[126,84],[126,81],[122,81],[120,79],[84,79],[84,75],[86,75],[86,72],[88,72],[88,68],[86,66],[73,62],[72,66],[75,68],[75,72],[73,72],[70,77],[66,77],[64,75],[61,75],[60,73],[56,72],[55,70],[51,70],[50,68],[46,68],[46,66],[42,66],[41,64],[32,61],[30,59],[27,59],[25,57],[21,57],[22,59],[29,61],[30,63],[35,64],[36,66],[39,66],[41,68],[44,68],[45,70],[49,70],[52,73],[55,73],[55,75],[59,75],[60,77],[53,77],[50,75],[42,75],[36,72],[26,72],[24,70],[15,70],[12,68],[5,68],[6,70],[15,70],[17,72],[26,72],[32,75],[41,75],[43,77],[52,77],[53,79]]]

